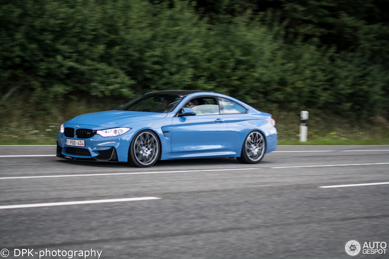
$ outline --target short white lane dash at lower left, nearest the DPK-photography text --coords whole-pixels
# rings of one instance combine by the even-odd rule
[[[22,204],[22,205],[5,205],[5,206],[0,206],[0,209],[47,207],[47,206],[106,203],[106,202],[119,202],[119,201],[144,201],[144,200],[156,200],[156,199],[161,199],[161,198],[158,198],[158,197],[138,197],[138,198],[91,200],[91,201],[66,201],[66,202],[35,203],[35,204]]]

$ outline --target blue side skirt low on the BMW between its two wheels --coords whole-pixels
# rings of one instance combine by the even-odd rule
[[[235,149],[214,152],[161,154],[161,160],[188,158],[236,158],[240,157],[241,152],[241,149]]]

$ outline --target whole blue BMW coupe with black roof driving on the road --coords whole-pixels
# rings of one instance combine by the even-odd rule
[[[237,158],[256,164],[275,151],[270,114],[224,94],[168,90],[147,93],[117,110],[79,115],[61,125],[57,156],[128,162]]]

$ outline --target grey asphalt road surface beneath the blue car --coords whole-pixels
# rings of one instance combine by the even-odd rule
[[[7,258],[91,249],[114,259],[349,258],[347,240],[389,244],[389,184],[319,187],[389,182],[389,145],[279,146],[257,165],[217,158],[133,168],[18,157],[55,150],[0,146],[0,249],[10,251]],[[159,199],[26,207],[135,197]],[[34,249],[34,257],[15,257],[14,249]],[[386,254],[357,258],[389,258],[389,246]]]

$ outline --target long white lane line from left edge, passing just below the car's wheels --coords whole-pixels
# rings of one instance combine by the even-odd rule
[[[26,179],[26,178],[76,177],[76,176],[100,176],[100,175],[137,175],[137,174],[147,174],[147,173],[186,173],[186,172],[209,172],[209,171],[230,171],[230,170],[254,170],[254,169],[261,169],[261,168],[157,171],[157,172],[136,172],[136,173],[93,173],[93,174],[83,174],[83,175],[42,175],[42,176],[0,177],[0,179]]]

